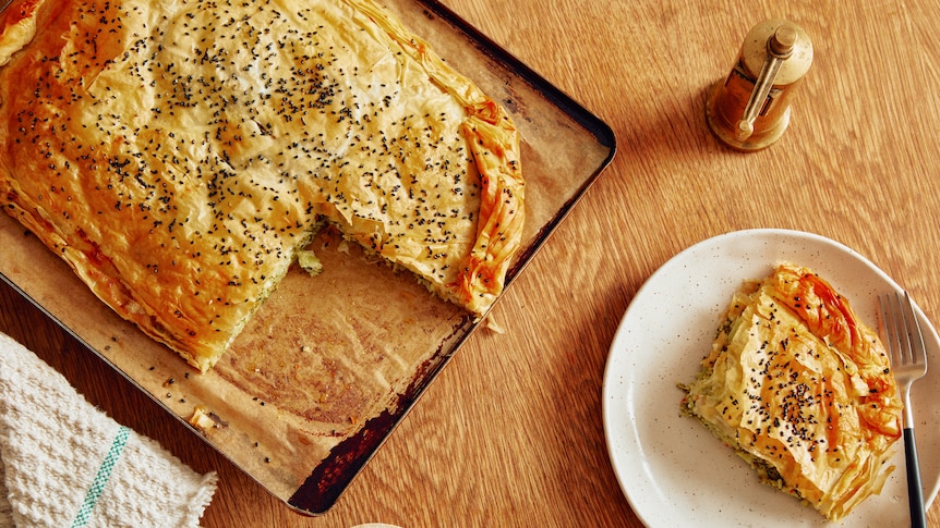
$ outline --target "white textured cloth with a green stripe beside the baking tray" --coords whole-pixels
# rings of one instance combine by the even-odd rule
[[[0,333],[0,528],[189,527],[216,490]]]

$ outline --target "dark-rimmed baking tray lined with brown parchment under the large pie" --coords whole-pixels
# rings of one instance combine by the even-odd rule
[[[527,226],[511,284],[611,162],[614,134],[446,7],[385,4],[520,131]],[[325,271],[292,269],[205,374],[110,311],[5,214],[0,277],[275,496],[318,515],[481,323],[328,231],[313,244]]]

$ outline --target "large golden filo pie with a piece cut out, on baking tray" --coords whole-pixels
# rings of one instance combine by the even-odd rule
[[[369,0],[0,15],[0,204],[203,370],[322,222],[485,312],[521,241],[518,142]]]

